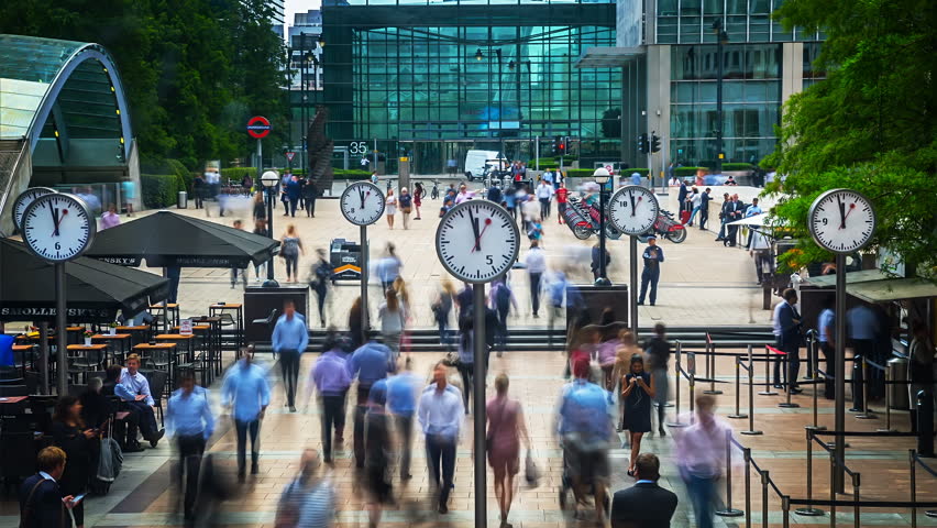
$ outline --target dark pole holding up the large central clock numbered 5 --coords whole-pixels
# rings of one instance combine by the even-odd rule
[[[488,495],[485,483],[487,475],[487,468],[485,466],[485,370],[487,367],[485,361],[487,359],[485,353],[485,285],[475,284],[472,290],[475,312],[473,332],[475,371],[472,380],[474,385],[472,397],[475,400],[475,526],[485,528],[488,526],[486,518]]]

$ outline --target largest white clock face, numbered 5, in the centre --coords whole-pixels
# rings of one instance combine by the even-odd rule
[[[436,231],[436,252],[445,270],[466,283],[487,283],[506,273],[517,260],[520,233],[499,205],[468,200],[442,217]]]

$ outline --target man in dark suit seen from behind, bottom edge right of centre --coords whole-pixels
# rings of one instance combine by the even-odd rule
[[[611,528],[669,528],[676,509],[676,495],[658,485],[661,462],[653,453],[635,461],[638,482],[615,492],[611,498]]]

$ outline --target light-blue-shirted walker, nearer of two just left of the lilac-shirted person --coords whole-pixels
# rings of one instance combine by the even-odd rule
[[[251,435],[251,474],[260,471],[260,430],[261,420],[271,404],[271,387],[266,373],[251,362],[251,354],[244,355],[236,365],[228,371],[221,386],[221,405],[232,407],[231,416],[238,431],[238,479],[244,482],[245,451],[247,433]]]

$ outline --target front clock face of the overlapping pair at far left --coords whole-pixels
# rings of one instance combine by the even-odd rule
[[[55,193],[36,198],[23,213],[23,241],[46,261],[79,256],[97,232],[97,221],[84,200]]]

